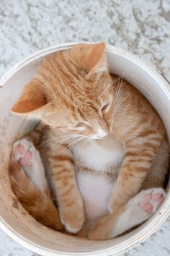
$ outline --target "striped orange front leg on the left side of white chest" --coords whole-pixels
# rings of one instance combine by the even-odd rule
[[[73,154],[67,145],[50,143],[48,160],[61,222],[66,230],[77,233],[84,224],[84,202],[76,184]]]

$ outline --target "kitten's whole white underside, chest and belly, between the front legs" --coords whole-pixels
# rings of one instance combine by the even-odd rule
[[[101,174],[110,168],[119,167],[124,156],[123,146],[108,136],[102,140],[91,140],[85,145],[84,142],[76,144],[72,152],[78,163],[76,179],[84,199],[86,218],[93,223],[100,216],[108,214],[107,204],[114,186],[114,182],[104,175],[97,175],[97,171]],[[81,166],[90,168],[96,174],[93,171],[81,171]]]

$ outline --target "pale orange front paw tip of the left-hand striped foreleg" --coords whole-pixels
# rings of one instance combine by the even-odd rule
[[[85,221],[84,205],[81,196],[67,205],[62,205],[59,208],[59,212],[61,222],[67,231],[74,234],[80,231]]]

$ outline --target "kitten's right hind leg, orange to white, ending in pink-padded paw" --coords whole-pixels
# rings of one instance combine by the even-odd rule
[[[112,239],[129,229],[148,220],[164,201],[164,189],[153,188],[141,191],[117,213],[99,218],[89,231],[88,237],[93,240]]]

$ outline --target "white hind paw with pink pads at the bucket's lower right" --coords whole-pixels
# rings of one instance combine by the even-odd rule
[[[149,218],[164,202],[165,196],[166,192],[161,188],[143,190],[128,202],[128,208],[139,208],[140,215],[143,213],[143,217]]]

